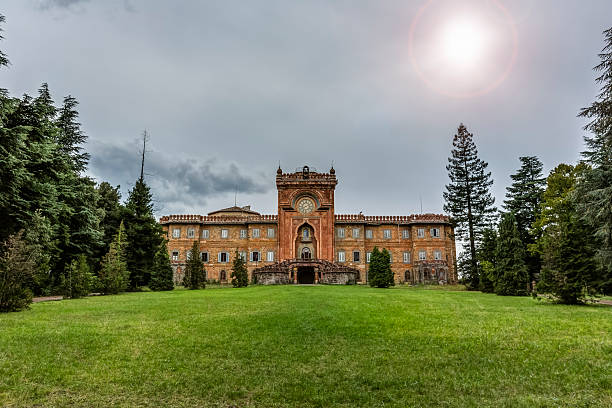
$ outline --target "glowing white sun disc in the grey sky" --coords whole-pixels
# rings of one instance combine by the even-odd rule
[[[454,68],[469,69],[482,62],[486,52],[486,30],[476,21],[454,20],[441,30],[441,54]]]

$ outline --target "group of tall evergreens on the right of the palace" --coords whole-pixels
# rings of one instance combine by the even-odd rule
[[[498,295],[550,294],[562,303],[612,293],[612,28],[604,31],[601,92],[579,115],[589,119],[577,164],[548,177],[537,157],[520,157],[502,210],[494,206],[487,163],[461,124],[444,192],[457,239],[467,243],[458,269],[468,288]]]

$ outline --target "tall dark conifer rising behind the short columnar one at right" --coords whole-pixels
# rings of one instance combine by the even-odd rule
[[[540,212],[542,195],[546,179],[542,175],[542,162],[535,156],[519,157],[521,168],[511,175],[512,185],[507,187],[504,208],[516,218],[519,236],[525,248],[525,263],[532,281],[540,272],[540,257],[527,251],[527,247],[535,242],[537,230],[533,224]]]

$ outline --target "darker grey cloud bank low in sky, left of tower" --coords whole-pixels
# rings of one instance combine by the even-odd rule
[[[140,173],[137,143],[91,143],[90,169],[98,181],[121,184],[122,192],[133,185]],[[216,158],[197,160],[151,151],[145,161],[145,178],[156,200],[157,212],[181,212],[203,208],[210,198],[233,194],[266,193],[270,186],[264,175],[248,175],[236,163]]]

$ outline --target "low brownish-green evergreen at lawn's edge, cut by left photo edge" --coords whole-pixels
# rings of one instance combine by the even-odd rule
[[[35,267],[35,254],[23,239],[23,231],[9,236],[0,255],[0,312],[16,312],[29,307]]]

